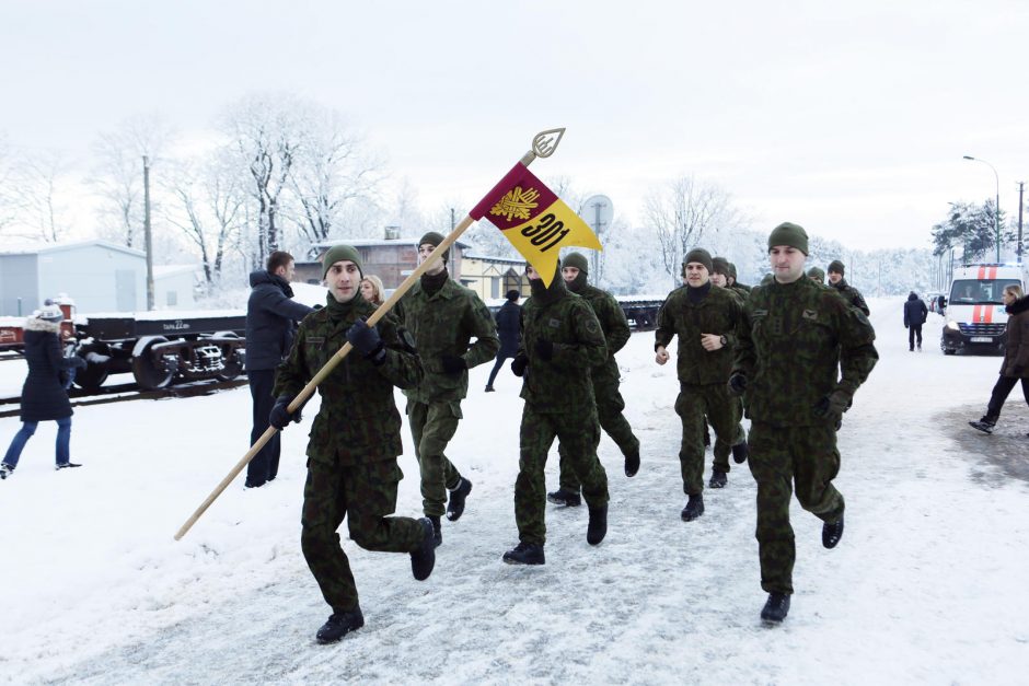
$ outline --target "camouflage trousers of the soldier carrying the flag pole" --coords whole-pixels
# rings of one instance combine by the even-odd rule
[[[300,547],[322,596],[334,613],[358,605],[350,562],[337,530],[347,518],[350,538],[366,550],[411,553],[425,537],[418,520],[388,516],[396,510],[404,474],[396,458],[342,466],[308,461]]]

